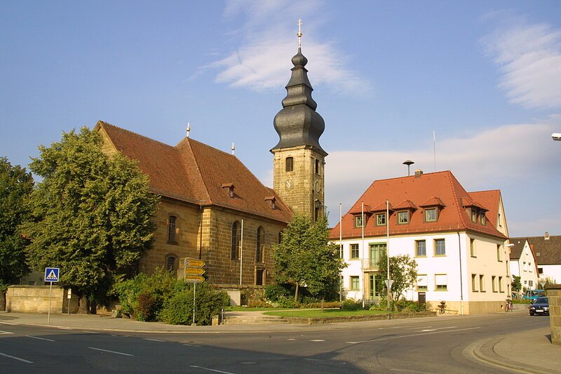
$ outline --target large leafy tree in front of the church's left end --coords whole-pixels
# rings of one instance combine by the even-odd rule
[[[43,181],[23,225],[32,240],[29,264],[60,267],[60,285],[79,295],[82,313],[150,248],[158,202],[135,161],[107,156],[101,145],[101,136],[83,127],[39,147],[30,168]]]

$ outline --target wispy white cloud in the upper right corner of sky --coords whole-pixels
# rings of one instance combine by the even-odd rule
[[[560,108],[561,29],[504,12],[486,19],[498,24],[482,41],[503,72],[500,87],[509,100],[529,108]]]

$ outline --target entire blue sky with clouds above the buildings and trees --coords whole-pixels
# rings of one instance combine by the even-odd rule
[[[0,0],[0,156],[98,120],[175,145],[189,123],[271,187],[299,18],[331,225],[410,159],[500,189],[511,236],[561,234],[558,0]]]

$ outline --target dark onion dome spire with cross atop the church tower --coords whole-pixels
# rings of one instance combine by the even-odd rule
[[[311,146],[327,156],[320,146],[319,139],[325,130],[323,118],[316,112],[317,103],[311,97],[310,81],[306,64],[308,59],[302,55],[302,21],[298,20],[298,53],[292,57],[292,76],[285,86],[287,95],[283,99],[283,109],[273,121],[280,138],[271,149]]]

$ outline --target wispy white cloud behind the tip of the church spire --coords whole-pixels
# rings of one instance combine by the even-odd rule
[[[312,84],[339,93],[369,91],[367,81],[348,67],[349,60],[339,57],[347,54],[338,50],[336,41],[320,41],[325,20],[318,11],[324,5],[320,0],[229,1],[224,16],[243,18],[242,27],[230,33],[241,44],[205,68],[217,69],[215,81],[232,87],[264,91],[285,86],[292,68],[290,58],[297,51],[297,19],[302,18],[302,52],[309,60],[306,68]]]

